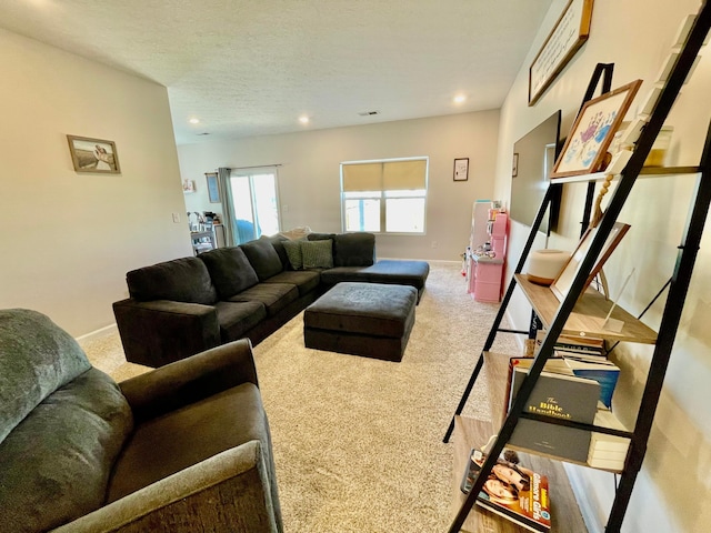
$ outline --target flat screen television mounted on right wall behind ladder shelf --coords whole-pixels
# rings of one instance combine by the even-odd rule
[[[533,225],[543,202],[549,175],[560,152],[560,120],[558,110],[513,144],[509,217],[529,227]],[[539,228],[545,234],[558,224],[561,185],[553,187],[551,193],[551,204]]]

